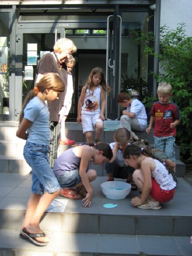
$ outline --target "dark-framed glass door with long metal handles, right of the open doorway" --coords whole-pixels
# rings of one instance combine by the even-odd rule
[[[122,109],[116,102],[120,92],[143,100],[152,88],[153,58],[144,52],[148,31],[154,30],[154,12],[149,8],[122,8],[108,16],[106,77],[112,88],[106,97],[106,119],[116,120]]]

